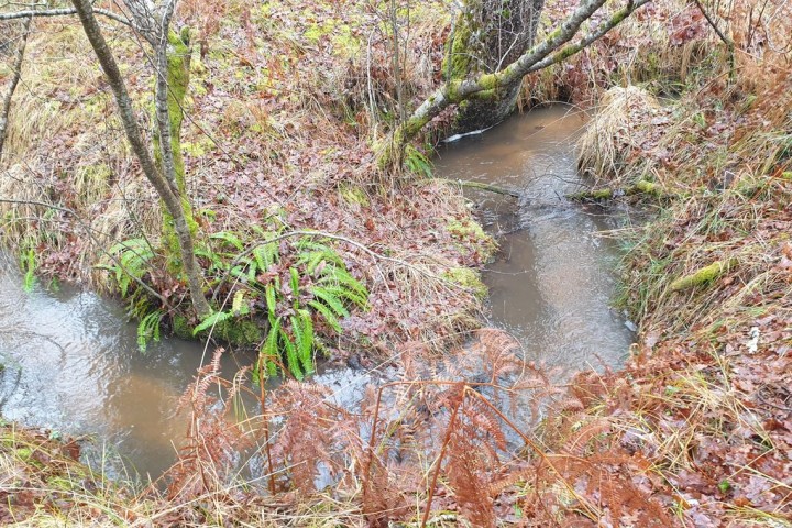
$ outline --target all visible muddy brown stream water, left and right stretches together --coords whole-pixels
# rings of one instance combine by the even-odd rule
[[[608,308],[618,251],[600,237],[617,219],[562,198],[579,185],[571,141],[583,124],[564,107],[535,110],[449,144],[437,162],[440,177],[522,193],[520,200],[471,196],[487,229],[507,232],[485,274],[490,318],[520,340],[528,358],[566,371],[601,361],[616,366],[631,342]],[[175,410],[209,361],[204,346],[164,339],[141,354],[136,324],[119,302],[67,287],[25,292],[22,282],[15,264],[0,258],[0,415],[92,438],[85,457],[111,476],[157,477],[184,438],[187,418]],[[249,362],[226,355],[223,374]],[[352,370],[319,376],[341,405],[351,405],[369,380]]]

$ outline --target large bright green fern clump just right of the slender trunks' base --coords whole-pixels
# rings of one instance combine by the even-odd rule
[[[348,307],[365,308],[369,292],[327,242],[300,238],[285,256],[276,240],[278,231],[254,231],[258,239],[254,244],[245,242],[244,235],[223,231],[210,237],[219,242],[218,248],[198,252],[209,261],[209,275],[216,277],[218,288],[222,289],[229,276],[234,280],[231,308],[204,319],[194,334],[211,328],[228,333],[223,327],[258,315],[270,328],[260,348],[262,372],[256,369],[256,378],[275,376],[280,370],[302,380],[314,373],[316,352],[323,349],[316,326],[340,333]]]

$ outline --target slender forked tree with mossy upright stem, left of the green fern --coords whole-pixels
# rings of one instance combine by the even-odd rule
[[[146,179],[152,184],[165,206],[164,238],[170,258],[170,266],[184,273],[190,300],[196,315],[205,319],[212,309],[204,294],[202,271],[196,258],[196,223],[186,195],[184,162],[182,160],[180,131],[184,101],[189,82],[189,32],[180,34],[170,30],[177,0],[164,0],[155,4],[148,0],[127,0],[124,4],[130,16],[111,11],[95,9],[90,0],[73,0],[74,9],[31,9],[0,13],[0,20],[32,16],[55,16],[76,14],[96,53],[116,98],[124,133],[138,158]],[[156,72],[155,114],[156,130],[154,153],[144,141],[132,99],[112,51],[102,34],[96,14],[112,18],[131,26],[152,47],[152,63]],[[20,65],[16,68],[19,73]],[[9,94],[12,94],[10,90]],[[9,95],[9,101],[10,101]],[[8,109],[8,105],[4,107]]]

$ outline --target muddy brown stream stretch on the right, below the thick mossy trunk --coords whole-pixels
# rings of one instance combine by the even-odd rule
[[[531,110],[482,134],[447,143],[436,176],[496,185],[520,198],[468,191],[501,245],[487,266],[491,322],[515,336],[529,360],[560,376],[618,366],[632,342],[609,308],[620,252],[607,232],[629,211],[571,204],[581,190],[574,141],[587,114],[568,106]]]

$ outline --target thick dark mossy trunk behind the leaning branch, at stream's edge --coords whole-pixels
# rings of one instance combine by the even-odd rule
[[[492,74],[514,63],[536,38],[544,0],[464,0],[446,47],[447,82]],[[453,133],[487,129],[517,106],[521,82],[485,90],[461,102]]]

